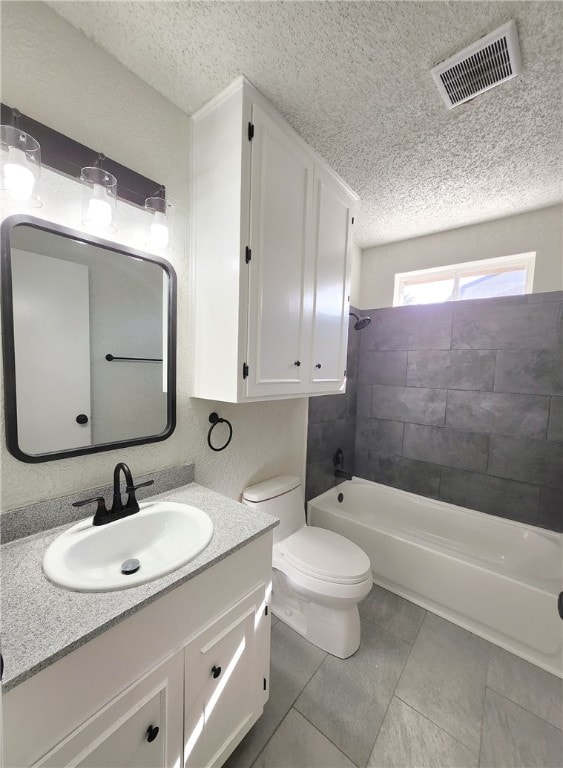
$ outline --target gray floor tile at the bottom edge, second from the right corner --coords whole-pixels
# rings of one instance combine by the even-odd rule
[[[368,768],[476,768],[479,757],[397,698],[393,698]]]

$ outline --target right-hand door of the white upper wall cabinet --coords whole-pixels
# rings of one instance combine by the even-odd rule
[[[334,391],[344,381],[348,344],[353,200],[325,170],[315,168],[315,292],[310,381]]]

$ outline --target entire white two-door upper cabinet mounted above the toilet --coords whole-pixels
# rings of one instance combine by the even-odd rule
[[[344,384],[357,200],[244,78],[192,118],[192,395]]]

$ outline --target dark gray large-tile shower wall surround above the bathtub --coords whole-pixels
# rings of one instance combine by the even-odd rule
[[[363,314],[347,394],[309,400],[307,498],[340,445],[358,477],[562,531],[563,292]]]

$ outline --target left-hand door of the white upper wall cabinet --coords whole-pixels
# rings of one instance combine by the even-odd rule
[[[253,104],[247,395],[303,390],[313,160]]]

